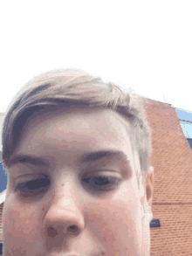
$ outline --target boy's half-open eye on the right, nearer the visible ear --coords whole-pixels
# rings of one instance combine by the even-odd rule
[[[83,178],[83,182],[92,186],[95,190],[115,190],[120,185],[120,178],[114,176],[89,176]]]

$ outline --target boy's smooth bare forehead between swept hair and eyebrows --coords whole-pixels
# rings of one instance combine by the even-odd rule
[[[128,149],[130,141],[120,114],[107,109],[58,109],[34,113],[26,121],[17,150]],[[47,150],[47,149],[46,149]],[[20,152],[20,153],[23,153]]]

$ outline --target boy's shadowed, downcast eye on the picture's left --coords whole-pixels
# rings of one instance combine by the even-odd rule
[[[49,185],[50,180],[48,178],[38,178],[27,183],[20,183],[17,186],[17,190],[21,191],[24,197],[32,197],[45,192]]]

